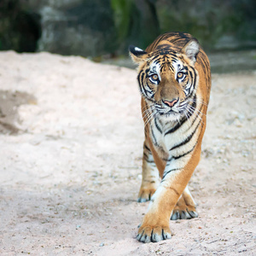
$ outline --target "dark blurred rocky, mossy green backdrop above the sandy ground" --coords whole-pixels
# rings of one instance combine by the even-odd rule
[[[256,48],[255,0],[0,0],[0,50],[101,58],[189,32],[207,51]]]

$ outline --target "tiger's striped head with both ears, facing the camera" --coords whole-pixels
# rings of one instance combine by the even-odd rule
[[[129,50],[138,65],[141,94],[155,115],[173,121],[189,115],[199,79],[195,69],[198,41],[191,39],[182,49],[162,41],[149,53],[133,45]]]

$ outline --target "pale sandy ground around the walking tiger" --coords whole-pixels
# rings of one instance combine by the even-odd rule
[[[199,218],[138,242],[137,73],[75,56],[0,53],[1,255],[255,255],[256,71],[213,74]]]

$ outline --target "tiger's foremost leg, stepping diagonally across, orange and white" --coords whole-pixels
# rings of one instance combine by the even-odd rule
[[[172,158],[167,162],[160,186],[150,201],[143,224],[139,227],[138,241],[161,241],[172,237],[169,220],[198,164],[200,149],[196,151],[197,154],[186,155],[183,160]],[[182,167],[183,164],[185,164],[184,167]]]

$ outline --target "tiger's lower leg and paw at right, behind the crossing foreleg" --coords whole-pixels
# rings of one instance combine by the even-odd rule
[[[172,220],[177,219],[189,219],[198,217],[198,213],[195,210],[195,201],[189,192],[189,188],[186,187],[183,191],[183,195],[177,201],[176,206],[172,211]]]

